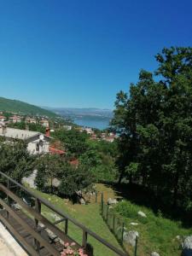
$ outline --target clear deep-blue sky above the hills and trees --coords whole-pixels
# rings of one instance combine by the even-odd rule
[[[0,0],[0,96],[113,108],[172,45],[192,45],[191,0]]]

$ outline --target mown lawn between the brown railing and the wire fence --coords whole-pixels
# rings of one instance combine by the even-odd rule
[[[115,239],[111,231],[108,229],[108,225],[105,224],[101,217],[99,204],[91,203],[85,206],[79,204],[73,205],[70,201],[63,200],[56,195],[47,195],[45,193],[39,192],[38,190],[35,190],[35,193],[44,197],[44,199],[51,202],[51,204],[55,205],[55,207],[60,208],[63,212],[67,213],[71,217],[76,218],[81,224],[84,224],[97,235],[102,236],[102,238],[113,244],[113,246],[121,249],[118,241]],[[42,212],[46,218],[49,218],[51,221],[55,221],[54,216],[49,208],[43,206]],[[64,229],[63,224],[60,224],[59,226],[61,229]],[[79,230],[79,228],[71,222],[68,226],[68,234],[75,241],[78,241],[81,244],[82,231]],[[95,256],[115,255],[115,253],[113,253],[107,247],[103,246],[100,242],[89,236],[88,242],[90,242],[90,244],[94,247]]]

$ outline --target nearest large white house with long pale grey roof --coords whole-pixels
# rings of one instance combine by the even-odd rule
[[[0,137],[5,137],[7,141],[16,139],[27,143],[27,149],[31,154],[49,153],[50,137],[38,131],[26,131],[6,126],[0,126]]]

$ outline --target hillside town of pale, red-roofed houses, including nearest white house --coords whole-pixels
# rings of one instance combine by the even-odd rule
[[[49,119],[48,116],[29,116],[0,111],[0,137],[6,138],[7,141],[16,139],[25,141],[31,154],[65,154],[66,148],[61,150],[61,148],[55,148],[55,144],[51,143],[50,134],[61,128],[66,131],[75,129],[85,132],[90,140],[95,141],[103,140],[113,143],[117,138],[114,132],[102,132],[73,124],[64,125],[63,119]]]

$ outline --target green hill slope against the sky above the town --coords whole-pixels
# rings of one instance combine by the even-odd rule
[[[28,104],[26,102],[20,102],[16,100],[9,100],[0,97],[0,111],[10,111],[16,113],[32,114],[32,115],[44,115],[48,117],[55,117],[56,114],[46,110],[44,108],[39,108],[37,106]]]

